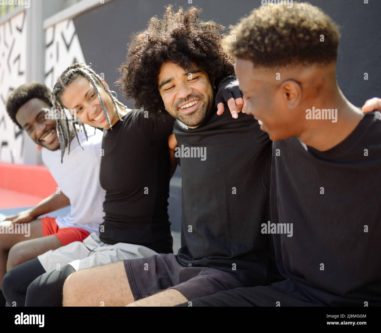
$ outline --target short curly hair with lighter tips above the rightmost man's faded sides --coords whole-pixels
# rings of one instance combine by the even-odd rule
[[[263,67],[327,64],[336,61],[339,39],[335,22],[310,3],[266,5],[232,27],[224,50]]]

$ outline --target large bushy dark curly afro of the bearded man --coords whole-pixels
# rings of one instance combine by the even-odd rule
[[[225,27],[199,21],[201,11],[190,7],[184,12],[179,7],[175,13],[167,6],[161,20],[152,17],[147,29],[132,37],[117,84],[126,98],[135,101],[136,108],[156,115],[167,113],[157,79],[164,62],[174,62],[184,70],[194,62],[216,82],[234,74],[234,59],[223,50],[225,35],[219,34]]]

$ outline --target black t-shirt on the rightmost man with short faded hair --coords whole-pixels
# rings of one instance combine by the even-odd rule
[[[315,303],[381,305],[380,112],[324,152],[274,142],[272,160],[271,223],[293,223],[274,234],[280,273]]]

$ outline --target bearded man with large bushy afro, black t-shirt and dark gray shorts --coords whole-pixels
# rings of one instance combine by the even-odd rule
[[[234,74],[234,59],[222,49],[223,27],[199,14],[169,6],[152,18],[133,38],[119,80],[136,107],[177,119],[170,147],[182,171],[182,247],[76,272],[64,284],[64,306],[173,306],[280,278],[271,237],[261,234],[270,218],[271,141],[250,115],[216,114],[216,86]],[[191,148],[206,155],[186,154]]]

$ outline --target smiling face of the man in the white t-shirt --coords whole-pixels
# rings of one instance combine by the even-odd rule
[[[51,114],[51,107],[41,99],[32,98],[19,108],[16,120],[38,145],[49,150],[59,149],[56,120]],[[50,119],[51,118],[51,119]]]

